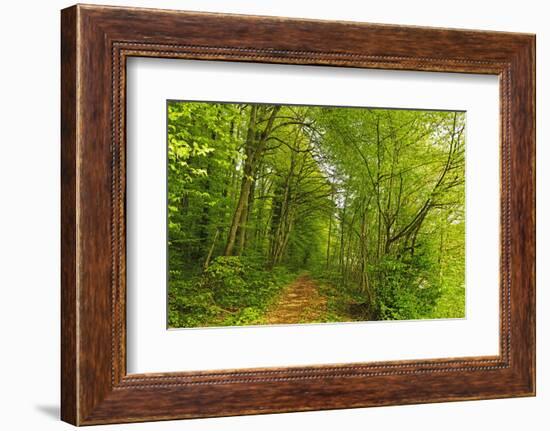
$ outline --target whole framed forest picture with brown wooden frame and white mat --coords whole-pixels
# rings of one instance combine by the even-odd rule
[[[535,394],[535,37],[62,11],[62,419]]]

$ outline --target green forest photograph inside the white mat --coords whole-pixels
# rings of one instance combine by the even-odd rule
[[[465,123],[169,100],[168,327],[464,318]]]

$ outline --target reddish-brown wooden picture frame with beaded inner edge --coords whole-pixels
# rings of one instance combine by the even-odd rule
[[[83,5],[61,16],[64,421],[91,425],[535,394],[534,35]],[[500,354],[128,375],[130,56],[498,75]]]

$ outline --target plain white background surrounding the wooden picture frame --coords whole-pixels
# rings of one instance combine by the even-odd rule
[[[104,4],[477,28],[537,34],[538,396],[95,429],[547,429],[550,423],[550,13],[546,2],[130,0]],[[59,414],[60,0],[4,2],[0,15],[0,428],[63,430]],[[545,280],[546,278],[546,280]]]

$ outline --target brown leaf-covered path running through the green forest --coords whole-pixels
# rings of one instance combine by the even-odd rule
[[[266,324],[312,323],[322,321],[327,299],[307,274],[302,274],[284,290],[279,300],[267,311]]]

